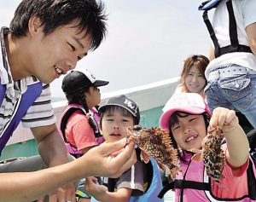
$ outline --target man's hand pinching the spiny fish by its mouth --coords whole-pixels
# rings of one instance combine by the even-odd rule
[[[126,144],[126,138],[111,143],[103,143],[90,149],[78,161],[84,161],[79,166],[79,172],[84,176],[119,177],[125,170],[131,168],[137,161],[134,142]],[[119,153],[117,153],[120,151]],[[84,169],[86,168],[86,169]]]

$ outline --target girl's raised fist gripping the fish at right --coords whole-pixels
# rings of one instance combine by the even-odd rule
[[[235,130],[239,126],[236,112],[224,107],[217,107],[212,112],[210,127],[219,126],[224,133]]]

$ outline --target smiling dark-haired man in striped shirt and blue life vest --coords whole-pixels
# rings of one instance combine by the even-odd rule
[[[88,157],[84,157],[84,161],[75,160],[73,166],[66,166],[67,151],[58,134],[50,104],[49,83],[73,69],[89,50],[96,49],[102,43],[106,33],[105,20],[104,7],[95,0],[23,0],[15,11],[10,27],[1,28],[0,152],[21,121],[25,127],[31,128],[38,142],[40,156],[1,164],[0,172],[30,172],[64,164],[61,168],[70,170],[65,175],[71,176],[54,178],[50,177],[49,171],[43,170],[30,175],[19,174],[19,179],[15,179],[15,174],[2,174],[0,179],[8,179],[9,184],[5,188],[6,182],[0,183],[4,184],[4,187],[0,185],[0,201],[31,201],[64,185],[54,192],[55,201],[74,201],[75,190],[71,183],[74,180],[86,175],[99,175],[100,172],[113,175],[120,168],[128,169],[127,165],[134,163],[129,147],[121,155],[122,158],[112,164],[112,171],[106,169],[108,162],[101,160],[96,166],[103,170],[91,167],[94,162],[90,161],[94,159]],[[124,147],[125,144],[120,143],[119,148],[121,145]],[[113,152],[108,149],[96,148],[94,155],[97,153],[101,158],[107,157]],[[125,163],[127,159],[130,159],[128,164]],[[71,173],[81,164],[86,167],[85,170]],[[58,167],[55,169],[59,170]],[[54,169],[49,170],[54,172]],[[69,178],[65,180],[66,177]],[[40,182],[42,179],[44,182]],[[20,187],[23,187],[23,191]]]

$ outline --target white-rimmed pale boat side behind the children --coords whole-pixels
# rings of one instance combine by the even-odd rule
[[[141,112],[145,112],[157,107],[163,107],[166,101],[171,97],[177,86],[177,78],[170,78],[160,82],[145,84],[130,89],[120,89],[109,93],[102,94],[102,103],[106,102],[108,98],[116,95],[126,95],[134,101],[137,101]],[[64,108],[67,107],[67,101],[53,102],[55,116],[57,122]],[[143,113],[142,113],[143,116]],[[157,117],[152,117],[157,118]],[[142,120],[143,117],[141,118]],[[145,122],[145,120],[144,120]],[[20,124],[15,130],[14,135],[8,141],[8,145],[32,140],[33,136],[31,130],[23,128]]]

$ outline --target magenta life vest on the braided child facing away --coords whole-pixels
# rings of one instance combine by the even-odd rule
[[[84,107],[82,107],[81,105],[78,105],[78,104],[68,105],[67,108],[65,109],[64,113],[62,113],[62,115],[61,115],[60,124],[59,124],[59,132],[60,132],[62,139],[65,141],[67,152],[72,154],[76,158],[79,158],[80,156],[83,155],[82,151],[79,151],[76,146],[72,145],[69,141],[67,141],[67,138],[65,135],[65,129],[67,126],[68,118],[70,118],[70,116],[77,110],[81,111],[82,113],[84,113],[84,116],[86,116],[87,113],[85,112]],[[96,126],[96,128],[94,129],[96,141],[98,144],[101,144],[104,141],[104,139],[100,133],[100,130],[99,130],[99,127],[97,124],[100,119],[100,116],[98,115],[98,113],[96,112],[95,109],[90,110],[90,116],[91,116],[91,120],[94,122],[94,124]]]

